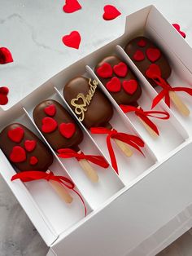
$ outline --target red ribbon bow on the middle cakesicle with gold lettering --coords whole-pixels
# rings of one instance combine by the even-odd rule
[[[119,174],[117,163],[116,163],[116,156],[115,152],[113,151],[112,145],[111,145],[111,139],[119,139],[120,141],[123,141],[124,143],[129,144],[133,148],[136,148],[139,152],[142,153],[142,150],[139,147],[144,147],[144,142],[142,139],[140,139],[137,136],[134,135],[127,135],[122,132],[118,132],[115,129],[109,130],[104,127],[92,127],[90,128],[90,131],[92,134],[104,134],[107,135],[107,148],[109,151],[109,155],[111,158],[111,165],[113,166],[114,170],[116,170],[116,173]],[[142,153],[144,156],[144,154]]]

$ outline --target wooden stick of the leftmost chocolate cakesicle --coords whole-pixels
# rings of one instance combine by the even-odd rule
[[[47,170],[46,173],[49,174],[50,170]],[[49,183],[51,187],[54,188],[55,192],[63,199],[63,201],[65,201],[67,204],[72,202],[72,196],[70,196],[65,188],[63,188],[62,184],[52,179],[49,180]]]

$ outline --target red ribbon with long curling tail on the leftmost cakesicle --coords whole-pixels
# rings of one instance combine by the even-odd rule
[[[15,179],[20,179],[24,183],[33,181],[33,180],[38,180],[38,179],[46,179],[47,181],[55,180],[56,182],[60,183],[64,187],[72,189],[72,191],[75,192],[76,195],[80,197],[82,204],[84,205],[85,216],[86,216],[87,209],[86,209],[85,201],[83,200],[80,193],[74,189],[75,184],[72,182],[72,180],[70,180],[64,176],[55,176],[55,174],[53,174],[52,171],[50,171],[50,173],[47,174],[46,172],[37,171],[37,170],[23,171],[23,172],[20,172],[19,174],[15,174],[12,176],[11,181],[13,181]]]

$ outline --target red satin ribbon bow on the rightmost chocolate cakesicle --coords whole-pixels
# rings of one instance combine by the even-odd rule
[[[150,77],[158,86],[161,86],[163,90],[159,92],[159,94],[153,99],[153,103],[151,108],[154,108],[156,104],[159,104],[159,101],[161,99],[164,99],[165,103],[168,105],[168,108],[170,108],[170,96],[169,91],[184,91],[185,93],[192,96],[192,88],[188,87],[172,87],[164,80],[164,78],[160,77],[157,74],[152,74]]]

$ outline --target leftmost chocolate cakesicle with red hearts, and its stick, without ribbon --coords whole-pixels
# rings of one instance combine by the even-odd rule
[[[24,171],[41,171],[50,173],[49,167],[54,158],[50,149],[36,135],[20,123],[5,127],[0,133],[0,148],[18,173]],[[72,196],[55,180],[49,180],[51,186],[67,203]]]

